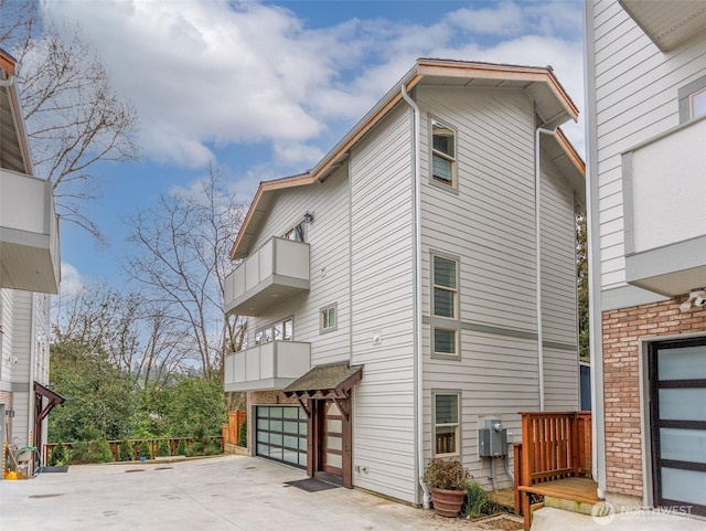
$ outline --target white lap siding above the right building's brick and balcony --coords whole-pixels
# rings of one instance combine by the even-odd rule
[[[706,75],[706,40],[663,54],[618,1],[593,13],[601,285],[611,289],[625,279],[620,153],[678,125],[677,93]]]

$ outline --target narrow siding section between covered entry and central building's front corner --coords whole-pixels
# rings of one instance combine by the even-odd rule
[[[357,487],[414,502],[411,120],[395,108],[351,152],[353,472]],[[374,334],[382,334],[374,344]]]

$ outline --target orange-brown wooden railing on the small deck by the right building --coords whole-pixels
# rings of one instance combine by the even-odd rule
[[[522,444],[514,445],[515,512],[530,514],[530,493],[550,481],[591,475],[591,413],[522,415]]]

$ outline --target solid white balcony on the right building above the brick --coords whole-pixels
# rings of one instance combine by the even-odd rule
[[[706,118],[622,156],[625,279],[666,296],[706,282]]]

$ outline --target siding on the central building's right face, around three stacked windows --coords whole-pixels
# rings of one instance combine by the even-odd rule
[[[430,311],[430,252],[456,255],[460,258],[463,327],[461,360],[447,361],[429,355],[430,326],[425,326],[425,458],[432,455],[431,392],[460,391],[462,459],[489,486],[484,478],[490,475],[490,459],[478,456],[478,428],[483,427],[483,420],[501,418],[518,442],[517,412],[539,406],[537,348],[532,339],[536,337],[534,106],[515,91],[428,88],[418,96],[425,145],[429,115],[458,130],[458,194],[429,183],[429,150],[421,150],[424,315]],[[556,171],[547,171],[554,181]],[[574,200],[563,180],[550,183],[548,177],[544,180],[544,219],[560,224],[546,234],[543,247],[548,266],[544,291],[568,315],[548,312],[545,340],[576,344]],[[489,327],[509,333],[494,333]],[[565,354],[559,360],[553,352],[547,354],[546,374],[552,376],[547,405],[552,407],[563,402],[565,387],[573,392],[563,407],[577,404],[576,353],[568,357],[574,373],[564,367]],[[511,486],[501,464],[496,474],[500,487]]]

